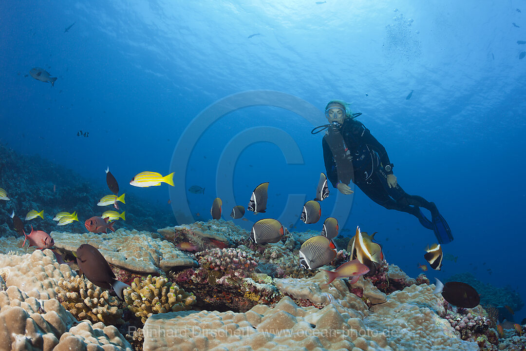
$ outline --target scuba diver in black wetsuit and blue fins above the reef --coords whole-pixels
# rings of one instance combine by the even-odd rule
[[[396,209],[417,217],[420,224],[431,229],[439,244],[453,240],[451,229],[438,212],[437,206],[421,196],[409,195],[398,185],[393,164],[386,149],[352,114],[347,103],[330,101],[325,108],[329,124],[312,129],[312,134],[327,128],[323,136],[323,159],[327,178],[342,194],[352,194],[352,181],[371,200],[387,209]],[[420,207],[431,212],[431,220]]]

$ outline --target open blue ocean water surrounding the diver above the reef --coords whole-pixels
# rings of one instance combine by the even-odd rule
[[[525,298],[524,16],[518,0],[2,2],[0,138],[97,185],[109,166],[126,191],[195,219],[210,218],[216,196],[246,206],[270,182],[266,215],[278,218],[314,196],[325,167],[322,134],[310,130],[343,99],[386,147],[399,184],[448,220],[444,254],[458,259],[428,276],[471,272]],[[58,77],[54,87],[26,76],[33,67]],[[205,194],[131,189],[142,171],[176,172],[180,187]],[[420,273],[430,230],[358,188],[346,203],[342,234],[378,232],[389,263]],[[322,218],[334,205],[322,203]],[[280,219],[321,229],[300,213]],[[247,218],[236,223],[261,215]]]

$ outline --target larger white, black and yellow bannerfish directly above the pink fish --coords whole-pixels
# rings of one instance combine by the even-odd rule
[[[370,274],[376,273],[376,265],[383,261],[382,247],[378,243],[374,243],[372,239],[376,233],[367,235],[366,232],[361,232],[360,227],[356,227],[356,235],[349,240],[347,251],[351,253],[351,258],[357,258],[361,263],[369,267]]]

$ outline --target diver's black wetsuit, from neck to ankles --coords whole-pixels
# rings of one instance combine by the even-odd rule
[[[391,165],[389,157],[369,129],[356,119],[347,118],[339,133],[341,137],[329,128],[322,141],[327,178],[332,186],[336,188],[340,182],[350,184],[352,180],[377,204],[410,213],[424,227],[431,229],[429,220],[424,219],[419,207],[427,208],[435,216],[438,214],[437,206],[421,196],[407,194],[400,185],[389,187],[387,176],[393,172],[392,169],[387,172],[384,168]]]

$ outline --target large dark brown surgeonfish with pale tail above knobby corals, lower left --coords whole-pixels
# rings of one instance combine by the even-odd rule
[[[113,288],[117,296],[123,299],[123,290],[130,286],[115,279],[115,273],[99,250],[92,245],[82,244],[77,248],[75,256],[80,272],[90,282],[101,288]]]

